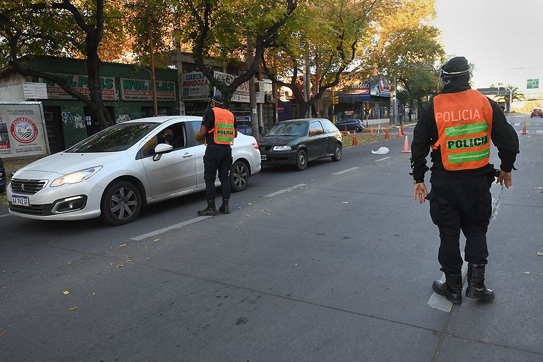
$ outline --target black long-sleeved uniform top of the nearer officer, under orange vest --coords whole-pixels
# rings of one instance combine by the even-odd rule
[[[441,93],[458,93],[471,89],[468,82],[452,82],[447,84]],[[519,153],[519,136],[517,136],[513,127],[507,122],[503,110],[492,99],[488,99],[492,106],[492,132],[490,139],[498,149],[498,157],[501,160],[500,168],[505,172],[511,172],[514,168],[516,154]],[[411,143],[411,168],[413,169],[413,179],[424,181],[424,174],[429,170],[426,165],[426,157],[430,152],[430,145],[438,140],[438,127],[435,123],[433,101],[428,104],[420,113],[419,120],[416,122],[413,132],[413,142]],[[473,170],[448,171],[443,167],[441,161],[441,148],[435,149],[431,153],[432,158],[432,176],[441,178],[465,178],[479,176],[489,173],[494,165],[488,164],[481,168]]]

